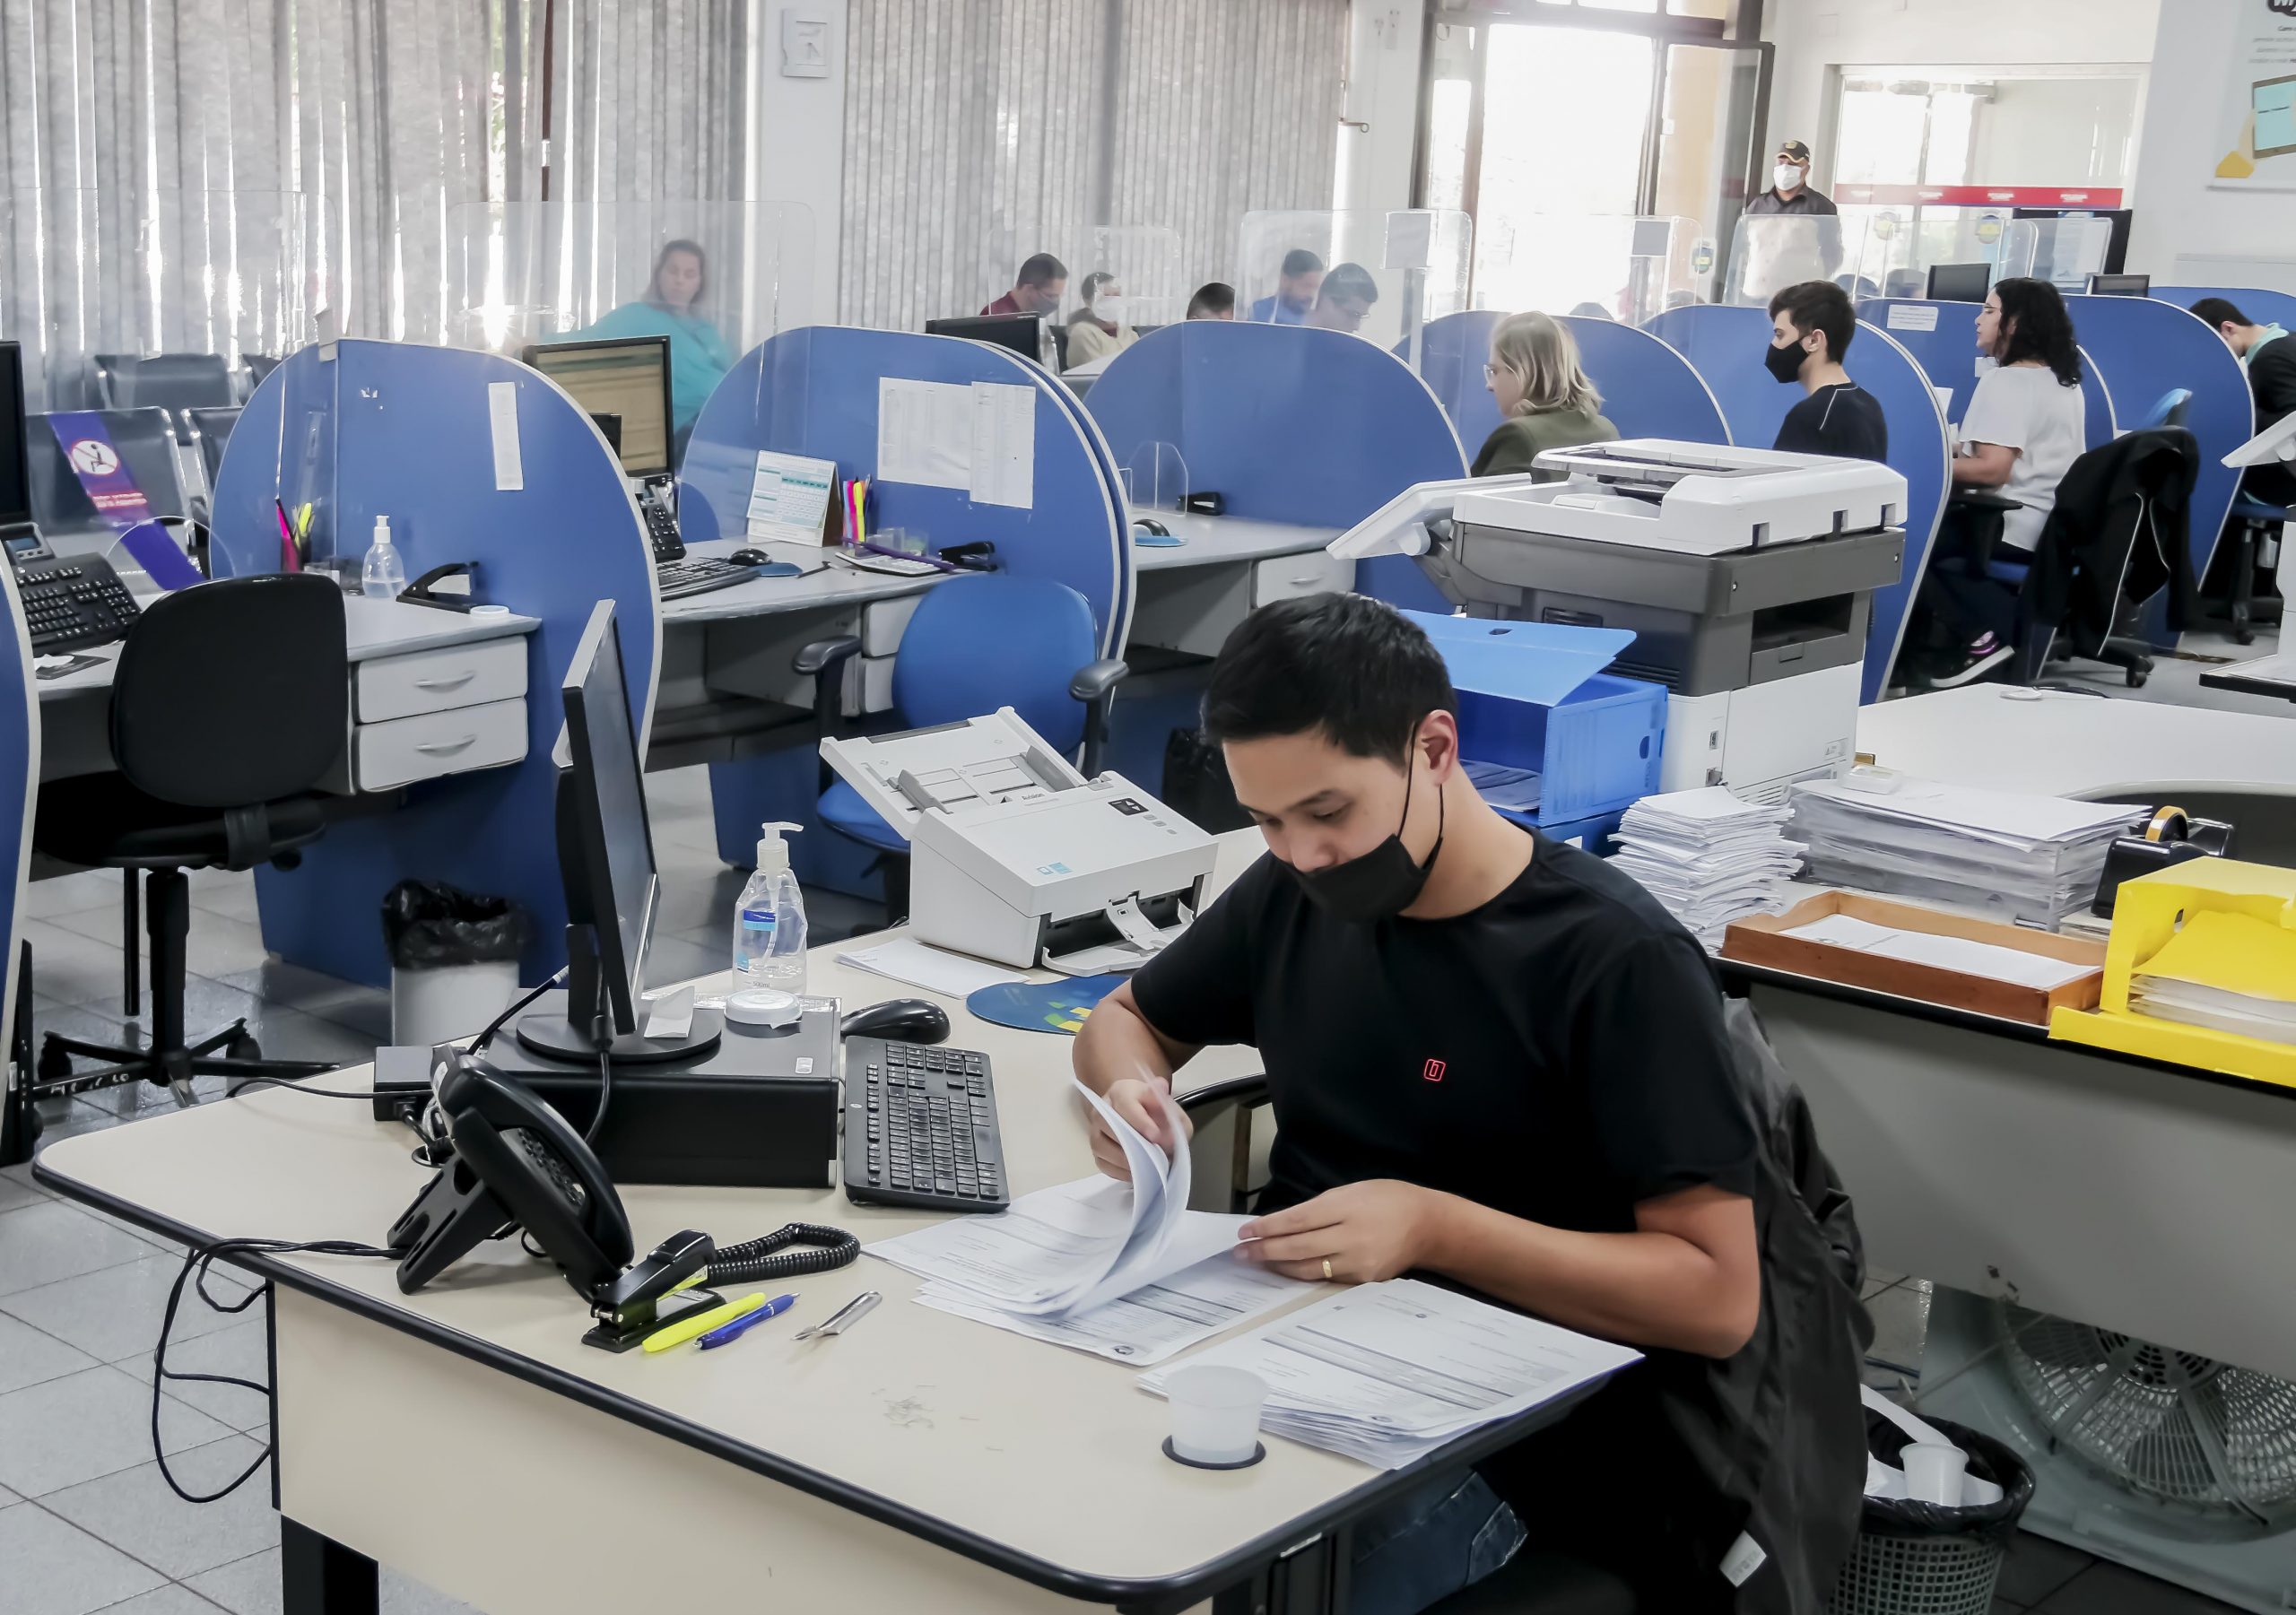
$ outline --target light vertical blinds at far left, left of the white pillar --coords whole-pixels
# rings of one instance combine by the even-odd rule
[[[436,342],[461,236],[540,195],[742,197],[746,0],[0,0],[0,340],[280,353],[319,312]],[[41,388],[41,381],[46,383]]]

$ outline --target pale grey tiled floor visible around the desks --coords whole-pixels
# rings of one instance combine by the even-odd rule
[[[2266,647],[2268,649],[2268,647]],[[2262,649],[2257,652],[2262,654]],[[2188,686],[2195,704],[2229,697],[2190,686],[2195,663],[2163,663],[2147,695]],[[2296,709],[2287,709],[2296,716]],[[707,775],[647,778],[664,876],[661,975],[726,963],[744,872],[716,860]],[[808,892],[817,941],[877,924],[866,904]],[[193,876],[191,1007],[197,1032],[248,1016],[266,1055],[365,1060],[388,1037],[388,993],[269,959],[248,876]],[[39,959],[39,1030],[115,1039],[122,1021],[119,879],[80,874],[30,890]],[[172,1106],[138,1087],[46,1106],[48,1138],[115,1126]],[[177,1500],[152,1459],[152,1347],[179,1269],[156,1239],[51,1200],[25,1168],[0,1170],[0,1610],[5,1615],[257,1615],[278,1608],[278,1516],[262,1475],[225,1503]],[[232,1292],[216,1278],[218,1292]],[[1919,1376],[1929,1287],[1876,1278],[1869,1379],[1899,1390]],[[243,1292],[241,1292],[243,1294]],[[186,1298],[170,1367],[264,1376],[264,1303],[220,1314]],[[209,1491],[262,1450],[266,1404],[227,1386],[161,1395],[161,1443],[188,1491]],[[386,1571],[383,1610],[461,1610]],[[1995,1615],[2200,1615],[2200,1599],[2041,1537],[2020,1537]]]

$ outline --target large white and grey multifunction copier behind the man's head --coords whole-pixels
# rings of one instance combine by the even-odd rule
[[[1548,450],[1564,482],[1424,482],[1332,544],[1414,555],[1469,617],[1632,629],[1612,672],[1667,686],[1660,789],[1784,801],[1855,757],[1874,590],[1906,553],[1876,461],[1628,438]]]

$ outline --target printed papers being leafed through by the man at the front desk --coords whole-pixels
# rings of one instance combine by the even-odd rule
[[[1120,1363],[1162,1363],[1309,1289],[1235,1257],[1244,1218],[1187,1209],[1185,1149],[1169,1158],[1100,1094],[1077,1092],[1123,1142],[1130,1184],[1040,1188],[999,1216],[948,1218],[868,1253],[923,1278],[928,1308]],[[1178,1136],[1169,1097],[1164,1124]]]

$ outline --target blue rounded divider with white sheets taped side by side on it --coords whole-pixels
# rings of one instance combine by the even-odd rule
[[[882,381],[1001,383],[1035,395],[1031,505],[976,502],[964,489],[877,479]],[[1130,610],[1132,551],[1120,493],[1063,388],[1040,365],[960,337],[859,326],[804,326],[735,362],[693,422],[682,470],[687,539],[739,537],[758,450],[833,461],[870,477],[877,523],[923,530],[934,546],[985,539],[1006,571],[1056,578],[1093,608],[1114,656]],[[755,837],[751,837],[755,840]]]

